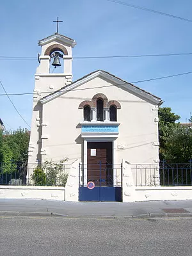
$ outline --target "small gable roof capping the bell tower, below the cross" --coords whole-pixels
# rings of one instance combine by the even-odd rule
[[[69,45],[72,45],[72,47],[74,47],[76,45],[76,42],[75,42],[74,39],[72,39],[70,37],[67,37],[67,36],[63,36],[63,35],[58,34],[58,33],[54,33],[51,36],[47,36],[47,37],[43,38],[42,40],[39,40],[38,45],[42,46],[42,45],[48,44],[50,42],[53,42],[55,40],[59,40],[60,42],[64,42],[64,43],[67,43]]]

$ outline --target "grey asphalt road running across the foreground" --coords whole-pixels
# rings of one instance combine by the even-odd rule
[[[192,219],[0,217],[1,256],[191,256]]]

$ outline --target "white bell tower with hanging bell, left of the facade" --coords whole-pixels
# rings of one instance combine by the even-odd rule
[[[47,120],[42,120],[42,97],[60,90],[72,83],[72,48],[76,42],[67,36],[54,33],[38,42],[42,47],[38,54],[39,65],[35,74],[35,89],[33,93],[33,114],[31,120],[31,135],[28,149],[28,179],[30,179],[30,166],[42,162],[42,155],[46,155],[42,148],[42,127],[47,126]],[[63,65],[61,64],[63,63]],[[61,67],[60,67],[61,66]],[[61,72],[51,72],[54,67],[60,67]]]

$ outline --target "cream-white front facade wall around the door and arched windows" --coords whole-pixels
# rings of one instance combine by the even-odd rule
[[[51,83],[47,78],[42,84]],[[56,82],[54,82],[55,84]],[[83,109],[78,109],[83,100],[92,100],[97,93],[104,93],[108,100],[117,100],[121,109],[117,109],[119,135],[115,143],[116,163],[126,159],[129,163],[156,163],[158,152],[157,108],[154,104],[141,99],[111,83],[96,77],[82,84],[77,90],[67,92],[43,105],[42,159],[59,161],[68,157],[69,163],[79,159],[83,162],[83,139],[81,125]],[[97,88],[102,87],[103,88]],[[109,86],[109,87],[105,87]],[[95,88],[96,87],[96,88]]]

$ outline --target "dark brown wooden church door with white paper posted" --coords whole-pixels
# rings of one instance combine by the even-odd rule
[[[113,186],[113,143],[112,141],[88,142],[87,182],[97,187]]]

